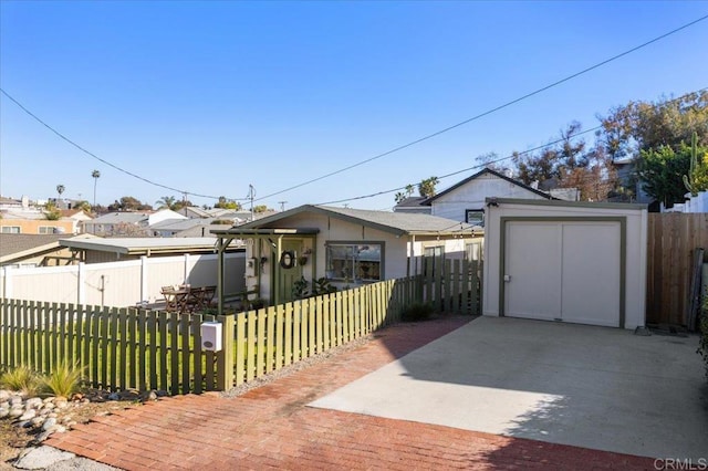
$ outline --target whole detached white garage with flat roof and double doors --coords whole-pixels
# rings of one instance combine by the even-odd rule
[[[644,326],[645,205],[487,201],[483,314]]]

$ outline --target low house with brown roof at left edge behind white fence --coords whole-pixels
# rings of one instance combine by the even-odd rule
[[[76,236],[76,239],[87,236]],[[66,234],[0,233],[0,266],[69,265],[79,260],[59,241]]]

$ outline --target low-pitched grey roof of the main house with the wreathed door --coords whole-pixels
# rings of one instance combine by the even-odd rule
[[[299,214],[314,212],[334,217],[350,222],[368,226],[395,234],[459,234],[460,230],[471,231],[472,227],[451,219],[430,214],[406,212],[375,211],[367,209],[334,208],[327,206],[304,205],[274,216],[239,226],[237,229],[258,229],[271,226],[277,221]]]

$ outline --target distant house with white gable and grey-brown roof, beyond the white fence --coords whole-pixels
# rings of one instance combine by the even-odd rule
[[[150,226],[168,219],[187,219],[169,209],[150,212],[110,212],[84,222],[85,232],[96,236],[147,236]]]

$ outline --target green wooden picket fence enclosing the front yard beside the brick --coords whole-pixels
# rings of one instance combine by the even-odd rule
[[[223,390],[400,321],[414,303],[478,313],[478,264],[447,262],[416,275],[236,315],[0,301],[0,368],[48,374],[77,365],[95,388]],[[471,273],[471,275],[465,275]],[[202,348],[201,324],[218,321],[222,349]]]

